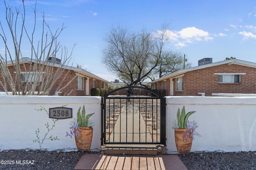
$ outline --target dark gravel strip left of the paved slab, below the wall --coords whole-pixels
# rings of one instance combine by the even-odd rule
[[[99,152],[4,150],[0,161],[5,164],[1,162],[0,170],[74,170],[83,154],[95,153]]]

